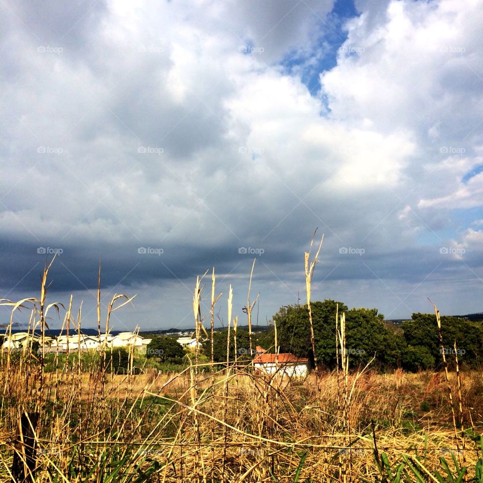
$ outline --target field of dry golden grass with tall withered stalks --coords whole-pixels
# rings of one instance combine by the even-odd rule
[[[31,330],[41,332],[47,313],[61,309],[46,303],[48,268],[40,299],[3,302],[13,312],[29,307]],[[212,308],[214,285],[213,275]],[[106,333],[110,313],[128,300],[113,298]],[[249,291],[249,326],[253,306]],[[70,301],[64,326],[81,329],[80,321]],[[236,326],[234,317],[235,345]],[[344,334],[342,314],[341,354]],[[121,375],[104,349],[88,371],[82,354],[62,364],[56,354],[47,372],[44,356],[33,346],[2,353],[5,481],[483,481],[480,371],[379,374],[370,365],[350,371],[341,359],[337,371],[288,378],[256,373],[236,355],[202,363],[197,346],[180,372],[131,364]]]

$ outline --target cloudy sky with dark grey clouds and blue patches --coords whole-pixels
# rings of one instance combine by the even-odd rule
[[[0,3],[0,298],[96,327],[483,310],[483,1]],[[119,303],[119,301],[117,302]],[[29,310],[15,312],[25,327]],[[51,328],[60,317],[49,314]],[[0,323],[10,308],[0,307]]]

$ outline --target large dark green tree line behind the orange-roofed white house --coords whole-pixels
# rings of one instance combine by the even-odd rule
[[[438,338],[436,315],[413,313],[411,320],[401,324],[384,321],[376,308],[348,309],[343,302],[324,300],[311,302],[315,352],[322,368],[336,367],[336,313],[345,312],[346,350],[351,367],[367,364],[384,371],[403,368],[415,372],[419,369],[438,369],[442,366],[442,350]],[[479,367],[483,342],[482,321],[453,316],[441,316],[444,352],[450,366],[455,355],[461,367]],[[307,305],[281,307],[273,316],[277,327],[280,352],[292,352],[299,357],[311,357],[310,329]],[[274,329],[259,339],[260,345],[274,347]],[[454,349],[456,343],[456,350]]]

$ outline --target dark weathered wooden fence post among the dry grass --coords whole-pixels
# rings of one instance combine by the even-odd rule
[[[39,413],[24,412],[20,417],[12,463],[13,483],[33,483],[36,466],[35,430]]]

